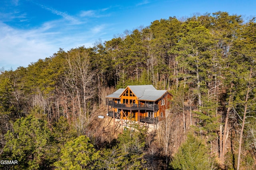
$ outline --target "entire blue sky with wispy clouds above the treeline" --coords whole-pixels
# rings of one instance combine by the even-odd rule
[[[154,20],[226,11],[256,16],[256,0],[1,0],[0,69],[107,41]]]

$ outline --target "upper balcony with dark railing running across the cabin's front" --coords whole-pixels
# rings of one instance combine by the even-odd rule
[[[108,105],[117,109],[124,109],[124,110],[147,110],[147,111],[154,111],[157,112],[159,110],[158,105],[150,105],[150,104],[143,104],[143,105],[138,105],[138,104],[121,104],[121,103],[115,103],[114,101],[108,101]]]

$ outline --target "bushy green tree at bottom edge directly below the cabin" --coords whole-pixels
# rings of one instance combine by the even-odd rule
[[[142,169],[145,160],[145,131],[125,130],[118,136],[118,144],[113,148],[103,149],[98,161],[98,169],[123,170]]]

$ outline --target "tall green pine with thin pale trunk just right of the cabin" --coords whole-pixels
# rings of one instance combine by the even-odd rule
[[[195,112],[200,119],[196,128],[204,133],[216,131],[217,122],[215,117],[216,102],[209,96],[209,77],[212,75],[212,49],[215,41],[210,30],[200,25],[200,22],[190,20],[184,23],[184,35],[171,52],[177,53],[178,75],[188,83],[190,88],[197,94],[198,111]]]

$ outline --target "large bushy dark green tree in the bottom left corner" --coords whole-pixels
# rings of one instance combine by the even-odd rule
[[[5,138],[2,159],[18,160],[14,169],[46,169],[54,162],[56,153],[50,149],[52,136],[46,121],[32,116],[18,119]]]

